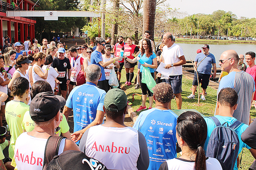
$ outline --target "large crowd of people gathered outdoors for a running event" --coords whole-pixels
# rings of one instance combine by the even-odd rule
[[[163,35],[157,48],[149,38],[145,31],[139,45],[119,36],[115,45],[111,38],[98,38],[93,48],[83,44],[68,50],[59,36],[50,44],[43,39],[42,46],[30,37],[14,47],[6,40],[0,57],[0,169],[237,170],[242,148],[256,158],[256,128],[250,117],[256,99],[255,53],[245,53],[248,68],[234,50],[220,56],[222,75],[227,74],[220,79],[214,116],[193,111],[177,115],[171,100],[175,97],[182,108],[182,47],[171,33]],[[195,98],[201,83],[201,99],[206,100],[209,78],[216,76],[209,49],[205,44],[203,52],[197,51],[188,98]],[[132,103],[120,89],[121,71],[124,67],[124,85],[130,86],[137,64],[135,84],[142,90],[142,105],[136,111],[144,111],[128,127],[124,117]],[[160,64],[169,75],[157,72]],[[156,82],[153,88],[142,81],[145,70]],[[109,84],[111,73],[118,85]]]

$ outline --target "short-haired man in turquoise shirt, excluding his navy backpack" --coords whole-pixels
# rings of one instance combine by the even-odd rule
[[[220,124],[224,124],[225,122],[227,122],[228,126],[230,126],[237,120],[236,118],[233,117],[234,110],[237,108],[237,105],[238,105],[237,99],[238,99],[238,95],[233,88],[226,87],[226,88],[222,88],[220,90],[219,95],[218,95],[218,101],[217,101],[217,108],[219,109],[219,114],[214,116],[220,121]],[[205,141],[205,151],[207,153],[207,145],[209,142],[209,138],[211,136],[213,129],[216,127],[216,125],[213,122],[213,120],[210,119],[209,117],[205,117],[204,119],[206,121],[207,128],[208,128],[207,138]],[[227,126],[227,124],[224,124],[224,126],[225,125]],[[256,158],[256,150],[250,148],[241,140],[241,134],[245,131],[245,129],[247,127],[248,127],[247,124],[242,123],[236,129],[236,133],[239,138],[238,154],[242,151],[242,148],[246,147],[247,149],[250,150],[253,157]],[[224,153],[221,153],[221,151],[220,151],[219,154],[224,154]],[[236,160],[234,170],[237,170],[237,169],[238,169],[238,167],[237,167],[237,160]]]

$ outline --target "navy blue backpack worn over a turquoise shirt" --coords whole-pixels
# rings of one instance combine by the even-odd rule
[[[235,130],[243,123],[236,120],[230,126],[227,122],[221,125],[216,117],[208,118],[214,121],[216,127],[213,129],[209,138],[205,155],[223,161],[227,169],[233,170],[239,154],[240,143]],[[227,124],[227,126],[224,126],[225,124]]]

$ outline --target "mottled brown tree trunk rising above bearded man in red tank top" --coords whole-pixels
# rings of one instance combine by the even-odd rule
[[[115,45],[117,34],[118,34],[118,24],[117,24],[116,18],[118,17],[117,12],[119,10],[119,0],[113,1],[113,10],[115,11],[116,15],[112,19],[113,24],[112,24],[112,30],[111,30],[111,39],[112,39],[111,45]]]

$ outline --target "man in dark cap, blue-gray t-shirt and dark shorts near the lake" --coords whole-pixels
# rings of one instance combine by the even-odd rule
[[[205,99],[206,88],[209,85],[209,79],[212,73],[213,66],[213,78],[216,77],[216,61],[213,54],[209,53],[210,47],[208,44],[205,44],[203,47],[203,53],[198,53],[195,59],[195,67],[197,67],[198,79],[199,82],[202,81],[202,100]],[[197,66],[198,64],[198,66]],[[194,80],[192,83],[192,94],[187,96],[188,98],[195,98],[196,89],[198,86],[197,73],[195,72]]]

